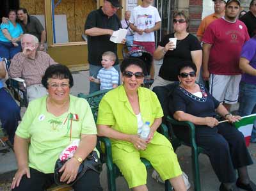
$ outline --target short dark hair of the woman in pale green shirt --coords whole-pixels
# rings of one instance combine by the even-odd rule
[[[44,73],[44,76],[42,77],[42,84],[43,86],[48,89],[48,79],[69,79],[69,88],[71,88],[74,85],[74,80],[72,77],[72,74],[67,66],[56,64],[49,66]]]

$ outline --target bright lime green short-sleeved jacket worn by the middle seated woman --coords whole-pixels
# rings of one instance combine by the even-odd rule
[[[143,122],[149,121],[150,125],[157,118],[163,117],[163,110],[154,92],[147,88],[138,88],[140,103],[140,112]],[[108,125],[118,132],[124,134],[137,134],[138,122],[131,104],[125,93],[124,86],[109,91],[99,104],[99,113],[97,118],[98,125]],[[163,139],[163,135],[155,132],[151,141],[152,144],[170,144]],[[123,148],[129,151],[133,150],[133,144],[127,141],[111,139],[112,147]]]

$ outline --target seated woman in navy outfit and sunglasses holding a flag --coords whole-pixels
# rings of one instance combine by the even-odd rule
[[[218,102],[207,89],[195,82],[196,65],[191,62],[179,67],[180,81],[173,91],[173,118],[178,121],[191,121],[196,126],[196,144],[204,148],[210,158],[214,172],[221,182],[220,190],[255,190],[250,181],[247,165],[253,164],[246,148],[244,136],[232,126],[240,116],[233,116]],[[218,113],[226,123],[215,118]],[[189,144],[189,129],[173,126],[175,135]],[[236,172],[238,179],[236,180]]]

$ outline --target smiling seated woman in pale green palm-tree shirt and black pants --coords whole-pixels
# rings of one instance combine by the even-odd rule
[[[80,139],[74,157],[60,169],[60,181],[72,183],[81,162],[95,149],[97,129],[92,111],[86,100],[70,95],[73,77],[67,66],[49,66],[42,84],[49,95],[29,103],[16,131],[14,150],[18,171],[13,178],[13,190],[43,191],[51,186],[61,151],[72,140]],[[76,115],[73,123],[70,114]],[[72,187],[76,191],[102,190],[99,173],[87,170]]]

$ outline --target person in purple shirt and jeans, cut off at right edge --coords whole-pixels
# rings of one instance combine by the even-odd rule
[[[256,113],[256,35],[244,43],[239,68],[243,70],[239,85],[239,114],[247,116]],[[251,142],[256,142],[256,121],[254,121]]]

